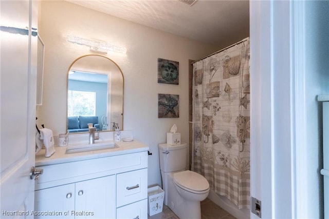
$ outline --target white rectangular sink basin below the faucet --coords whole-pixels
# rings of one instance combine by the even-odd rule
[[[78,144],[78,145],[69,145],[66,149],[66,153],[80,153],[86,151],[96,151],[96,150],[104,150],[111,148],[118,148],[119,146],[114,142],[95,142],[94,144]]]

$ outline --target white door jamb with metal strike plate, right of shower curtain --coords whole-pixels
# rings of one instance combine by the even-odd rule
[[[272,218],[269,12],[270,1],[250,1],[250,195],[262,202],[262,218]]]

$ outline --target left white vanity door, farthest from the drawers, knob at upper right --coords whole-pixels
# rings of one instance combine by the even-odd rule
[[[75,184],[38,190],[34,196],[34,218],[75,218],[71,214],[75,209]]]

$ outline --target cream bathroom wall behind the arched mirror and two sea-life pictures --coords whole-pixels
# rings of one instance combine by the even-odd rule
[[[107,54],[124,75],[124,129],[146,143],[149,185],[161,185],[158,148],[166,142],[173,124],[181,140],[189,140],[188,60],[199,59],[221,48],[161,32],[63,1],[42,1],[39,33],[45,43],[43,105],[37,109],[38,124],[53,130],[66,128],[66,74],[88,48],[66,41],[68,34],[106,41],[127,48],[125,55]],[[157,59],[179,62],[179,85],[157,83]],[[158,93],[179,94],[179,118],[158,118]]]

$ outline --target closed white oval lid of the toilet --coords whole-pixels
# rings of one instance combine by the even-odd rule
[[[174,173],[174,182],[182,189],[192,190],[192,192],[201,192],[209,189],[209,183],[206,178],[190,170]]]

